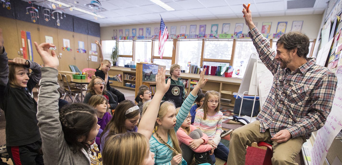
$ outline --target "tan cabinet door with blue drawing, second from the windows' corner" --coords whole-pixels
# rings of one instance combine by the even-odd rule
[[[75,36],[75,49],[79,47],[78,42],[83,42],[83,47],[84,47],[83,49],[87,50],[86,53],[75,51],[76,66],[78,67],[78,69],[82,71],[84,68],[88,68],[88,54],[89,54],[88,36],[84,34],[79,34],[79,33],[74,33],[74,36]]]

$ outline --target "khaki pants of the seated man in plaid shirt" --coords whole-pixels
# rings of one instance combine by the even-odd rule
[[[272,143],[273,165],[298,165],[298,163],[295,163],[294,158],[300,152],[305,138],[299,136],[278,144],[271,141],[269,129],[260,132],[260,121],[254,121],[232,132],[227,165],[244,165],[247,146],[252,146],[252,142],[260,141]]]

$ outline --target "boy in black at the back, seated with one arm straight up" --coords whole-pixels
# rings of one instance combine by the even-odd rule
[[[102,55],[101,44],[97,40],[95,40],[95,43],[97,44],[98,49],[99,49],[98,52],[99,52],[100,60],[102,60],[103,55]],[[111,62],[109,60],[103,60],[100,64],[100,67],[98,69],[96,69],[95,76],[101,77],[103,80],[105,80],[105,82],[107,84],[107,91],[113,96],[113,99],[117,103],[120,103],[126,99],[125,99],[125,96],[123,93],[121,93],[120,91],[118,91],[117,89],[115,89],[109,85],[108,71],[109,71],[110,67],[111,67]]]

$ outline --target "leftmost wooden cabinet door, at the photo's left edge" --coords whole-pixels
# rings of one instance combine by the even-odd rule
[[[20,49],[16,20],[0,17],[0,23],[5,23],[0,24],[0,28],[2,29],[2,36],[4,40],[3,45],[7,52],[7,57],[11,59],[21,57],[19,56]]]

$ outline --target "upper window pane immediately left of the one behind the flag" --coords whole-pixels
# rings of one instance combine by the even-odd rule
[[[134,55],[135,62],[151,62],[152,52],[152,41],[151,40],[140,40],[134,41]]]

